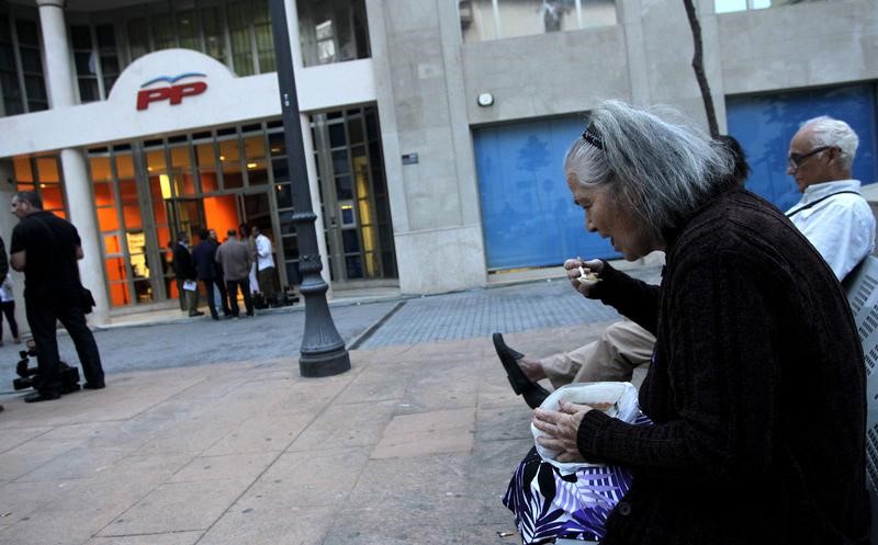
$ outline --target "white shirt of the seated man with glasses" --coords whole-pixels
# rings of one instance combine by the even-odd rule
[[[802,206],[840,191],[855,191],[857,194],[831,196],[796,213]],[[814,245],[838,280],[875,249],[875,215],[858,193],[857,180],[815,183],[806,188],[802,198],[787,211],[792,224]]]

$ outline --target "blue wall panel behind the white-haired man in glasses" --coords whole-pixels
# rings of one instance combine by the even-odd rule
[[[802,122],[829,115],[851,125],[859,136],[853,175],[863,184],[875,182],[875,86],[847,86],[758,96],[725,99],[729,134],[738,138],[753,171],[747,189],[781,211],[799,201],[796,182],[787,175],[789,140]]]

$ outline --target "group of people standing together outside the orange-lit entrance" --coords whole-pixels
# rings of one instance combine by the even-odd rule
[[[199,282],[204,286],[207,308],[214,320],[219,319],[221,309],[224,317],[239,317],[238,293],[247,316],[254,316],[254,293],[261,289],[267,300],[274,297],[273,248],[258,226],[254,225],[249,231],[246,224],[241,224],[237,231],[228,229],[223,243],[217,240],[214,229],[200,229],[198,236],[201,241],[190,250],[189,236],[180,231],[173,247],[173,271],[181,308],[188,310],[189,316],[204,316],[199,310]],[[217,308],[217,299],[222,308]]]

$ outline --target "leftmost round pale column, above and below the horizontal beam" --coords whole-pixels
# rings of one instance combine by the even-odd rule
[[[46,60],[46,90],[49,106],[54,109],[72,106],[74,67],[70,64],[70,44],[67,41],[67,25],[64,22],[63,0],[37,0],[40,24],[43,29],[43,44]],[[79,149],[61,149],[61,171],[67,197],[69,219],[79,230],[82,251],[86,257],[79,262],[82,285],[91,289],[97,307],[89,315],[92,325],[106,323],[110,319],[110,304],[106,296],[106,279],[101,264],[101,240],[94,217],[94,200],[91,196],[86,155]]]

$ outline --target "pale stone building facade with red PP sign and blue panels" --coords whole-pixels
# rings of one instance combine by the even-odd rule
[[[876,179],[875,0],[698,0],[722,132],[779,207],[798,124],[860,135]],[[269,0],[0,3],[0,183],[77,225],[111,314],[173,305],[178,231],[258,225],[299,282]],[[615,257],[561,160],[603,99],[705,123],[683,2],[288,0],[324,275],[406,294]],[[2,196],[2,195],[0,195]],[[14,218],[0,218],[8,237]],[[104,289],[100,289],[104,286]],[[101,300],[102,299],[102,300]]]

